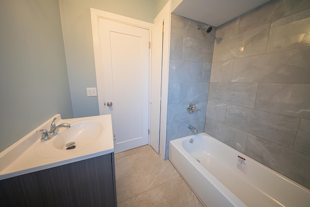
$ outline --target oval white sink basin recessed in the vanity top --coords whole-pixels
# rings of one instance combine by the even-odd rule
[[[67,143],[74,142],[74,149],[78,150],[99,139],[104,127],[98,121],[82,121],[71,124],[70,128],[61,128],[52,138],[57,149],[66,150]]]

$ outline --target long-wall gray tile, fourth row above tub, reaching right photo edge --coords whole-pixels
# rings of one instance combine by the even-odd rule
[[[232,82],[310,83],[309,54],[306,47],[235,59]]]

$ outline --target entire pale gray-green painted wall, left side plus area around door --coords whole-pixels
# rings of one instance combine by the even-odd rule
[[[96,87],[91,7],[153,23],[167,2],[1,2],[0,151],[56,113],[62,118],[99,114],[97,98],[86,96],[86,87]]]

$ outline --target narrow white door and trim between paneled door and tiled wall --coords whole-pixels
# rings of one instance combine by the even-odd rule
[[[166,149],[171,1],[154,19],[152,31],[152,79],[150,145],[163,159]]]

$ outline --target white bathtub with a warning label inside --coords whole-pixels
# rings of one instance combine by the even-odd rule
[[[171,141],[169,159],[207,207],[310,207],[309,189],[206,133]]]

